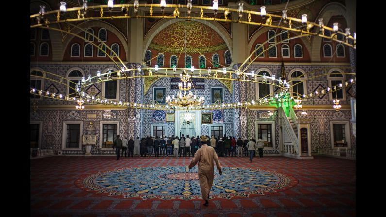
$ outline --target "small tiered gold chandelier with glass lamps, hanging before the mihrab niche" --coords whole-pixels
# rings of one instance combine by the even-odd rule
[[[193,66],[192,66],[193,69]],[[194,70],[194,69],[193,69]],[[190,91],[192,83],[190,82],[189,73],[185,73],[185,70],[180,74],[181,82],[178,84],[177,96],[174,94],[170,97],[166,97],[166,103],[170,106],[187,107],[187,106],[201,106],[204,103],[205,98],[200,95],[193,95]]]

